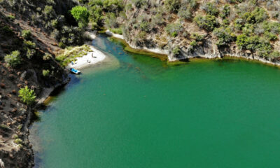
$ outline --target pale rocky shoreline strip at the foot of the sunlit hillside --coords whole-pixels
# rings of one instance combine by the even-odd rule
[[[106,34],[109,36],[113,36],[114,38],[119,38],[121,40],[125,41],[125,38],[123,37],[123,35],[120,34],[114,34],[113,32],[111,32],[109,29],[106,30]],[[125,43],[127,43],[127,41],[125,41]],[[234,54],[230,54],[230,53],[225,53],[223,54],[223,56],[221,56],[221,53],[219,55],[216,55],[214,57],[209,57],[208,55],[204,55],[204,56],[200,56],[200,57],[181,57],[181,58],[172,58],[169,55],[169,51],[168,50],[161,50],[160,48],[141,48],[141,47],[137,47],[134,46],[130,43],[127,43],[127,45],[134,49],[134,50],[146,50],[148,52],[153,52],[155,54],[159,54],[159,55],[167,55],[167,61],[168,62],[181,62],[184,59],[194,59],[194,58],[199,58],[199,59],[223,59],[224,57],[232,57],[232,58],[237,58],[237,59],[246,59],[248,61],[257,61],[260,62],[262,64],[268,64],[270,66],[277,66],[280,68],[280,62],[272,62],[271,60],[267,60],[265,58],[262,57],[247,57],[245,55],[234,55]]]

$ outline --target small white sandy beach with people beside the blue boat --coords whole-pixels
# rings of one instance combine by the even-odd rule
[[[92,50],[92,52],[87,52],[87,55],[84,55],[83,57],[78,57],[76,62],[74,62],[74,64],[68,64],[67,68],[81,69],[85,66],[102,62],[105,59],[106,55],[104,55],[103,52],[97,50],[91,45],[90,49]]]

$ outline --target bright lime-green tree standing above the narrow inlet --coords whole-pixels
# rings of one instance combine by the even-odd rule
[[[78,22],[79,27],[86,27],[90,13],[83,6],[75,6],[71,9],[71,15]]]

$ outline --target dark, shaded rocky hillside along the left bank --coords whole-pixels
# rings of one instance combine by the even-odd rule
[[[33,167],[28,127],[35,105],[23,104],[18,91],[28,86],[39,101],[68,82],[68,73],[55,61],[60,50],[57,39],[65,36],[59,33],[61,37],[55,38],[51,34],[64,29],[60,21],[69,27],[76,24],[68,13],[75,4],[59,0],[0,1],[0,167]],[[50,29],[54,20],[57,25]],[[23,30],[30,32],[29,37]],[[20,64],[8,66],[4,57],[15,50],[20,52]]]

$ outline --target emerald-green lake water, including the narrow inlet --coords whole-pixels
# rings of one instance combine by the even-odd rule
[[[280,167],[280,69],[168,66],[106,36],[93,45],[114,61],[85,69],[41,111],[36,167]]]

